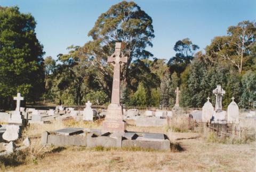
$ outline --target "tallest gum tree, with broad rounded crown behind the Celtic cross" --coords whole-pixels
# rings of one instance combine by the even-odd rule
[[[107,56],[115,51],[116,42],[125,43],[122,52],[128,57],[121,75],[124,83],[133,60],[153,56],[145,50],[147,46],[153,46],[151,39],[155,35],[152,22],[151,17],[134,2],[122,1],[100,15],[88,34],[93,40],[81,48],[81,56],[99,70],[99,81],[104,78],[111,80],[111,70],[106,61]]]

